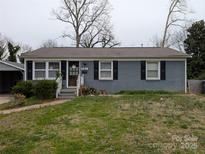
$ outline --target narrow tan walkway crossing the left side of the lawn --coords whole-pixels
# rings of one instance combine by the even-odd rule
[[[32,105],[32,106],[25,106],[17,109],[10,109],[10,110],[3,110],[0,111],[0,114],[7,115],[11,113],[16,113],[16,112],[22,112],[22,111],[29,111],[29,110],[34,110],[34,109],[40,109],[48,106],[55,106],[59,104],[63,104],[69,100],[56,100],[50,103],[45,103],[45,104],[37,104],[37,105]]]

